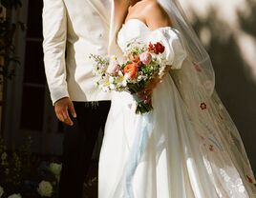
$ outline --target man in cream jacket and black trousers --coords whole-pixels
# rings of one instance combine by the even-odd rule
[[[116,34],[126,0],[44,0],[43,49],[57,118],[66,124],[59,197],[81,198],[98,130],[110,95],[96,89],[91,53],[116,53]],[[123,13],[115,13],[122,7]],[[119,18],[119,16],[118,16]],[[112,20],[111,20],[112,19]],[[98,101],[96,107],[91,102]]]

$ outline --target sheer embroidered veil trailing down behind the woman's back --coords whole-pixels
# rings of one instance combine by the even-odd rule
[[[207,51],[198,36],[189,25],[181,9],[179,0],[158,0],[173,22],[173,27],[180,31],[181,42],[188,56],[180,71],[170,71],[190,118],[195,125],[211,123],[206,128],[219,129],[224,141],[231,141],[230,156],[239,168],[251,172],[242,138],[224,105],[216,93],[215,74]],[[208,109],[207,116],[202,113],[202,105]]]

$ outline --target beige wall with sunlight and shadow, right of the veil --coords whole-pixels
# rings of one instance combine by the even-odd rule
[[[216,89],[256,172],[256,1],[180,0],[209,51]]]

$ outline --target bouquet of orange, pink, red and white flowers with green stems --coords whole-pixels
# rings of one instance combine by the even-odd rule
[[[128,91],[136,102],[136,113],[153,109],[151,102],[139,97],[140,92],[156,77],[163,75],[166,68],[164,46],[157,42],[143,44],[132,42],[124,51],[124,63],[117,61],[117,56],[101,57],[91,54],[96,61],[96,86],[103,91]]]

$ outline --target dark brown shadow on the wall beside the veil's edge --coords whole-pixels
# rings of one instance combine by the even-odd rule
[[[256,2],[246,0],[251,14],[245,16],[237,11],[238,24],[245,33],[256,39]],[[196,13],[194,13],[197,16]],[[245,62],[237,41],[237,35],[228,28],[227,22],[218,19],[216,9],[212,9],[206,19],[197,17],[194,29],[199,34],[209,30],[211,39],[208,52],[216,73],[216,89],[225,108],[240,131],[245,149],[256,173],[256,77]],[[226,35],[226,32],[227,35]],[[256,57],[256,54],[255,54]],[[256,59],[254,69],[256,69]],[[254,78],[254,79],[253,79]]]

